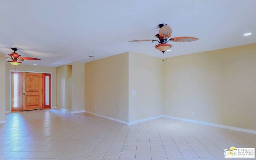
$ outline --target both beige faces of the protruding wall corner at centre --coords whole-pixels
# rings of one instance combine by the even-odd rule
[[[162,114],[161,59],[127,52],[85,63],[84,71],[85,110],[125,122]]]

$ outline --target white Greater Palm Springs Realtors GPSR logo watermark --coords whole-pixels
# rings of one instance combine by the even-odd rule
[[[224,149],[224,158],[255,158],[255,148],[235,148]]]

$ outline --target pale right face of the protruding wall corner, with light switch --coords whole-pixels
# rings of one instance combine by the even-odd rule
[[[161,59],[129,52],[129,122],[162,115],[162,76]]]

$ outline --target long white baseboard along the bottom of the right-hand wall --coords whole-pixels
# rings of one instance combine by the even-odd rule
[[[214,127],[219,127],[219,128],[225,128],[225,129],[234,130],[234,131],[240,131],[240,132],[256,134],[255,130],[250,130],[250,129],[245,129],[245,128],[232,127],[232,126],[228,126],[228,125],[209,123],[209,122],[197,121],[197,120],[193,120],[193,119],[186,119],[186,118],[180,118],[180,117],[174,117],[174,116],[166,116],[166,115],[164,115],[163,117],[171,118],[171,119],[177,119],[177,120],[180,120],[180,121],[197,123],[197,124],[204,124],[204,125],[209,125],[209,126],[214,126]]]

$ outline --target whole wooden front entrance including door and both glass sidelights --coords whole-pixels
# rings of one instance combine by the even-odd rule
[[[51,108],[51,73],[11,71],[11,111]]]

